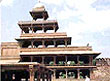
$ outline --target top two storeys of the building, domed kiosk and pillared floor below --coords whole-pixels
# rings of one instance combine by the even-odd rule
[[[43,31],[43,33],[46,33],[47,30],[53,30],[53,32],[56,32],[59,29],[56,20],[46,20],[48,18],[48,13],[41,3],[36,4],[34,8],[30,11],[30,14],[33,18],[32,21],[18,22],[18,25],[22,30],[22,34],[37,33],[39,31]],[[41,21],[37,19],[43,20]]]

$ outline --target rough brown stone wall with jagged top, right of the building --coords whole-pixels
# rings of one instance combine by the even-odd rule
[[[110,58],[96,59],[97,69],[93,71],[94,81],[110,81]]]

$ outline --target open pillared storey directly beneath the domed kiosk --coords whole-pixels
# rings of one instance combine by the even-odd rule
[[[18,25],[22,29],[22,33],[36,33],[37,31],[43,30],[58,30],[58,23],[56,20],[46,20],[46,21],[19,21]]]

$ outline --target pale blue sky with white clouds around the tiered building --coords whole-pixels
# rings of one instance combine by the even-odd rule
[[[58,32],[72,37],[72,46],[86,46],[110,58],[110,0],[40,0],[57,20]],[[37,0],[2,0],[0,2],[1,42],[15,42],[21,30],[18,21],[31,21],[29,11]]]

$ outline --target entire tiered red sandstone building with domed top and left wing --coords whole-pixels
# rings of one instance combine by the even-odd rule
[[[32,21],[19,21],[21,35],[17,42],[1,44],[2,81],[83,81],[92,79],[100,54],[91,46],[71,45],[71,37],[59,29],[56,20],[47,20],[44,6],[30,11]],[[42,20],[39,20],[42,19]],[[47,31],[53,30],[53,33]],[[42,31],[42,33],[38,33]]]

